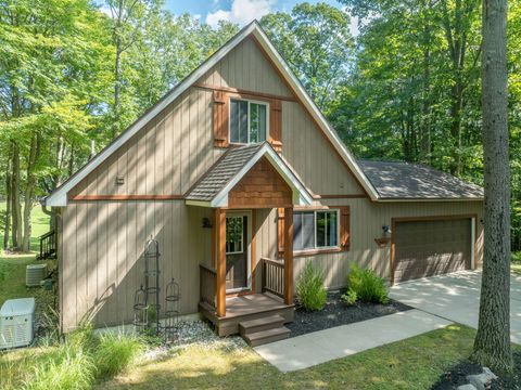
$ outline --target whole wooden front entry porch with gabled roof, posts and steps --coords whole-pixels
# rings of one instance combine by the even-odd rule
[[[310,205],[312,194],[263,143],[228,150],[186,202],[214,209],[212,265],[200,268],[201,313],[219,336],[240,333],[252,346],[288,337],[283,324],[293,321],[294,311],[293,207]],[[272,209],[283,216],[281,259],[259,258],[255,248],[257,211]],[[262,286],[255,284],[258,272]]]

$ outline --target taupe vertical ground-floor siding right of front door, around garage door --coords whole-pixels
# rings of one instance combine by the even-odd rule
[[[374,270],[379,276],[389,280],[391,277],[391,245],[379,248],[374,238],[382,236],[382,225],[391,226],[393,218],[403,217],[476,214],[478,263],[474,266],[481,266],[481,259],[483,258],[483,225],[480,222],[480,219],[483,218],[482,202],[396,202],[383,204],[360,198],[328,199],[322,200],[321,205],[351,207],[351,247],[348,251],[343,252],[295,257],[293,259],[295,283],[307,261],[323,270],[325,286],[332,289],[345,286],[351,262]],[[277,259],[277,211],[258,210],[256,222],[257,257]],[[260,274],[260,270],[258,274]],[[260,275],[258,274],[256,275],[257,286],[260,283]]]

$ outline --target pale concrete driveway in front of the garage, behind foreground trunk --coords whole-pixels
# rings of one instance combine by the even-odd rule
[[[510,335],[521,344],[521,276],[510,277]],[[392,299],[427,313],[478,327],[481,271],[405,282],[391,287]]]

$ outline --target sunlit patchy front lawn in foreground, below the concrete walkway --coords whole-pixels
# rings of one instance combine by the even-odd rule
[[[469,356],[475,330],[462,325],[282,374],[254,350],[193,344],[168,359],[142,363],[98,389],[428,389]]]

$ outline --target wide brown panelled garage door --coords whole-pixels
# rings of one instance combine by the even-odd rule
[[[394,282],[470,269],[471,219],[396,222]]]

